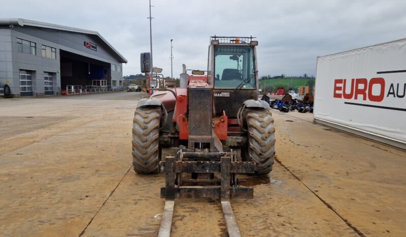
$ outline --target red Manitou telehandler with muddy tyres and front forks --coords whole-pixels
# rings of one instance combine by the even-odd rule
[[[241,236],[229,200],[253,198],[253,188],[240,187],[237,174],[268,174],[275,154],[270,107],[258,100],[258,41],[253,39],[212,36],[207,70],[183,66],[179,88],[154,89],[149,99],[137,104],[134,170],[165,171],[161,197],[166,201],[158,236],[170,235],[175,198],[207,197],[221,199],[229,236]],[[149,56],[141,53],[142,72],[151,70]],[[162,159],[162,146],[179,150]]]

